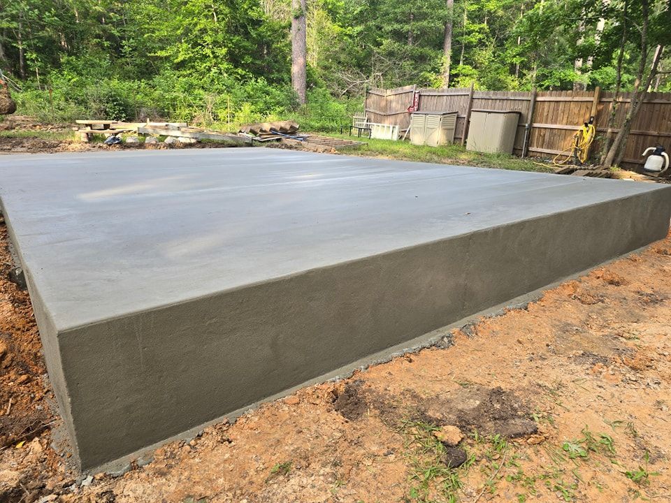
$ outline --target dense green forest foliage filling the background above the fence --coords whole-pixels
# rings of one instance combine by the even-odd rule
[[[650,48],[671,41],[668,3],[649,0],[0,0],[0,68],[20,113],[41,119],[163,117],[233,128],[293,117],[336,131],[366,87],[442,85],[452,22],[453,87],[632,89]],[[291,91],[289,26],[305,15],[308,105]],[[618,72],[619,54],[623,64]],[[655,90],[671,89],[671,57]]]

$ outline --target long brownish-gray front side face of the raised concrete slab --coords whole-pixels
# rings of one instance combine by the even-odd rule
[[[120,458],[661,239],[671,215],[668,192],[579,207],[59,333],[58,346],[45,351],[51,353],[50,374],[66,376],[82,467]]]

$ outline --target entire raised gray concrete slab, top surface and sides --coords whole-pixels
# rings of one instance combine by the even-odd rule
[[[286,150],[0,157],[95,467],[663,238],[671,187]]]

